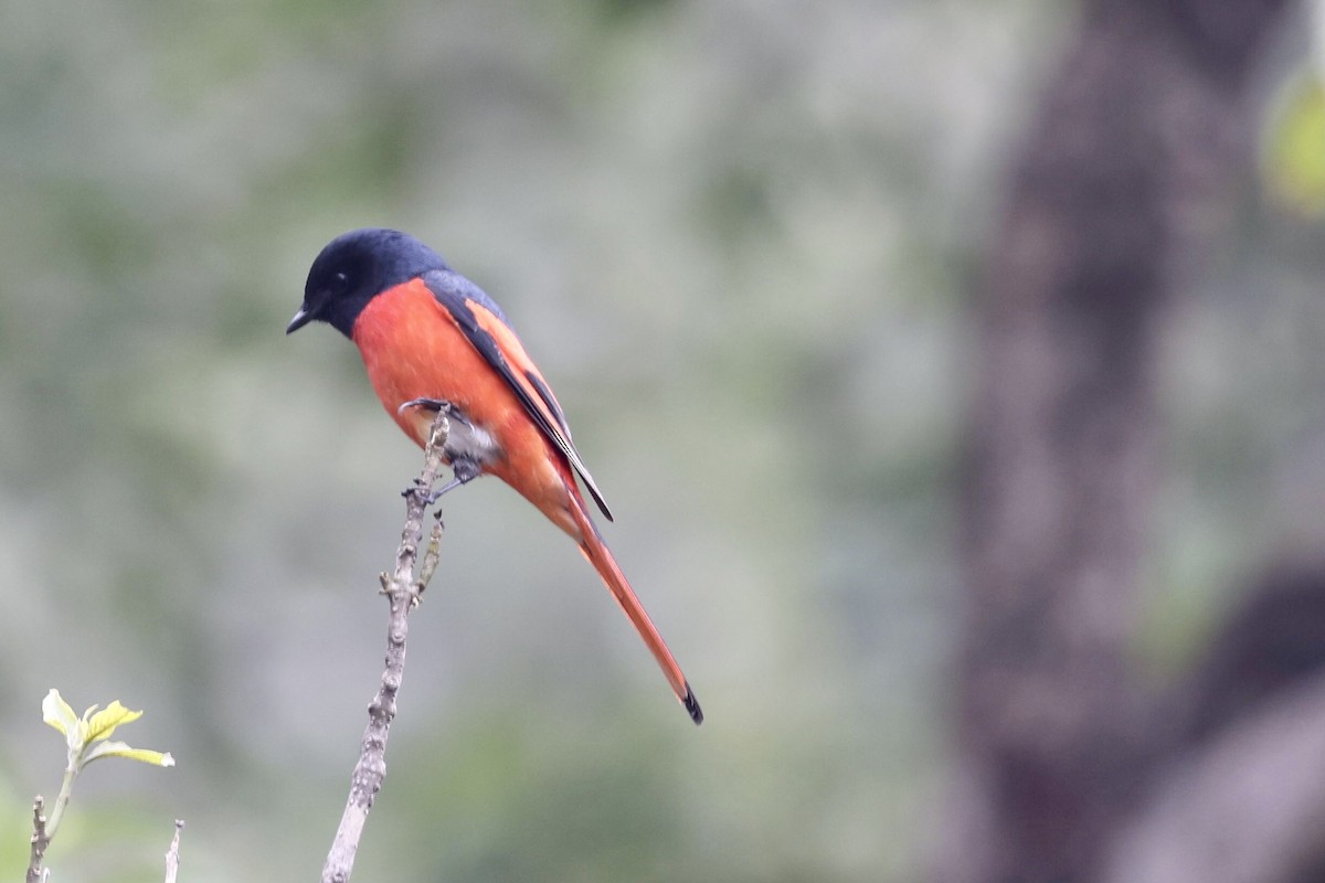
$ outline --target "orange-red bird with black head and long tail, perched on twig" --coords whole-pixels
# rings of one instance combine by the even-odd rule
[[[448,413],[443,459],[453,479],[437,495],[496,475],[570,535],[662,669],[690,719],[704,711],[599,532],[576,478],[607,520],[612,512],[575,450],[551,387],[501,307],[415,237],[384,228],[331,240],[309,270],[285,332],[325,322],[363,356],[392,420],[420,447]]]

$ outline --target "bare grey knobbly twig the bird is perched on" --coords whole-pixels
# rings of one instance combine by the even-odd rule
[[[423,567],[415,575],[419,559],[419,544],[423,540],[423,518],[432,502],[433,486],[441,471],[441,451],[447,442],[450,424],[447,412],[437,413],[432,424],[424,467],[415,479],[413,487],[405,491],[405,527],[400,535],[396,551],[396,568],[391,576],[382,575],[382,593],[391,602],[391,624],[387,629],[387,666],[382,673],[382,686],[368,706],[368,727],[363,731],[359,763],[350,777],[350,797],[341,817],[326,864],[322,867],[323,883],[346,883],[354,870],[354,857],[359,849],[359,837],[368,821],[372,798],[382,788],[387,774],[387,733],[396,716],[396,692],[404,676],[405,634],[408,616],[419,604],[419,597],[436,569],[439,544],[441,543],[441,522],[432,530]]]

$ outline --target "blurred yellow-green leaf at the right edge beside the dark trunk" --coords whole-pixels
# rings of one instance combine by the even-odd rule
[[[1265,142],[1275,197],[1304,214],[1325,216],[1325,79],[1306,73],[1284,87]]]

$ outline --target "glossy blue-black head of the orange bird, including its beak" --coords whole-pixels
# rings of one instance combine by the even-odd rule
[[[313,262],[303,306],[285,334],[317,319],[348,338],[354,320],[378,294],[429,270],[447,269],[441,256],[398,230],[368,228],[338,236]]]

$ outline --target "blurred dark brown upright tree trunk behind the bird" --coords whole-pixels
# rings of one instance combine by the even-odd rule
[[[1247,159],[1288,0],[1094,0],[977,293],[958,763],[934,879],[1098,879],[1163,737],[1128,676],[1175,273]],[[1214,221],[1214,222],[1212,222]]]

